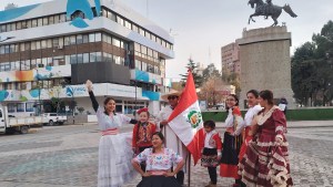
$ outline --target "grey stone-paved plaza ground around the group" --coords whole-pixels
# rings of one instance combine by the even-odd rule
[[[333,186],[333,122],[289,123],[291,172],[295,186]],[[302,127],[304,126],[304,127]],[[130,132],[131,126],[122,132]],[[222,133],[223,128],[219,128]],[[0,135],[1,187],[94,187],[98,173],[97,125],[32,129],[27,135]],[[134,187],[138,176],[124,187]],[[208,172],[191,168],[191,186],[203,187]],[[231,186],[219,178],[219,187]]]

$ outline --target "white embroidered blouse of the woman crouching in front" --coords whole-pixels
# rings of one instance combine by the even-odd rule
[[[152,153],[152,148],[145,148],[134,158],[137,163],[145,162],[147,170],[168,170],[183,160],[170,148],[163,148],[163,153]]]

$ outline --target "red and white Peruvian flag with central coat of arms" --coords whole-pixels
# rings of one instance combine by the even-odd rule
[[[203,127],[203,121],[191,71],[180,101],[168,121],[169,126],[192,154],[195,165],[201,157],[200,142],[203,141],[203,131],[199,129]]]

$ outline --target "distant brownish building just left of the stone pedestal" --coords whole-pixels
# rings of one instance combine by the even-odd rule
[[[240,46],[233,42],[222,46],[222,69],[230,73],[241,73]]]

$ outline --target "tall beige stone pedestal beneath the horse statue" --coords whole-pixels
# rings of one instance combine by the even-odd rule
[[[292,40],[286,27],[243,31],[243,38],[236,42],[241,60],[241,108],[244,108],[246,92],[252,89],[271,90],[276,101],[285,97],[287,107],[294,107],[290,58]]]

